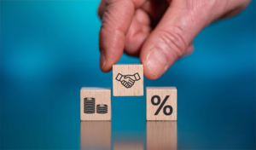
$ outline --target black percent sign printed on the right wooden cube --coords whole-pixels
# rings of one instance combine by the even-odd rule
[[[160,96],[159,95],[154,95],[151,98],[151,103],[154,106],[158,106],[160,104],[160,107],[158,107],[158,109],[156,110],[156,112],[154,113],[154,115],[158,115],[158,113],[160,113],[160,110],[162,109],[162,107],[164,107],[164,105],[166,104],[166,101],[168,100],[168,98],[170,97],[170,95],[166,95],[166,98],[164,99],[164,101],[160,104]],[[156,99],[157,101],[154,102],[154,99]],[[167,113],[167,108],[170,109],[169,113]],[[172,107],[170,105],[166,105],[166,107],[164,107],[164,113],[166,116],[169,116],[172,114]]]

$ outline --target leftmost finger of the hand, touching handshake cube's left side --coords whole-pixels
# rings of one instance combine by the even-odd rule
[[[125,35],[131,25],[135,9],[146,0],[105,0],[105,11],[100,30],[100,66],[109,72],[121,58],[125,47]]]

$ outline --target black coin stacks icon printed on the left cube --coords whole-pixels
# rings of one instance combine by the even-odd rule
[[[84,98],[84,113],[95,113],[95,98]],[[96,113],[108,113],[108,105],[99,104],[96,106]]]

